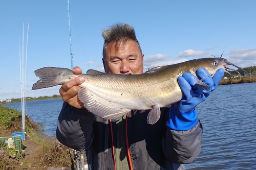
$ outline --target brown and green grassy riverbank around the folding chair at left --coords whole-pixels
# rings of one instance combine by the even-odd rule
[[[22,121],[17,110],[0,106],[0,136],[12,137],[13,132],[20,132]],[[6,116],[9,116],[10,121]],[[4,119],[4,120],[3,120]],[[73,150],[41,132],[32,120],[26,121],[26,138],[23,144],[27,147],[24,159],[12,158],[0,149],[0,169],[75,169]]]

